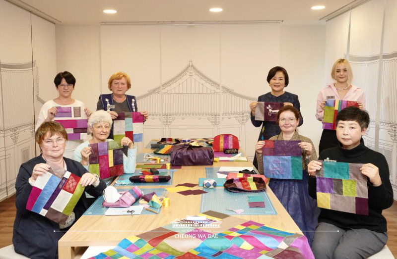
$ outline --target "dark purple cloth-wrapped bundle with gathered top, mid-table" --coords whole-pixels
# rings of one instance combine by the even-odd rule
[[[212,165],[214,152],[211,147],[177,145],[172,147],[171,165]]]

